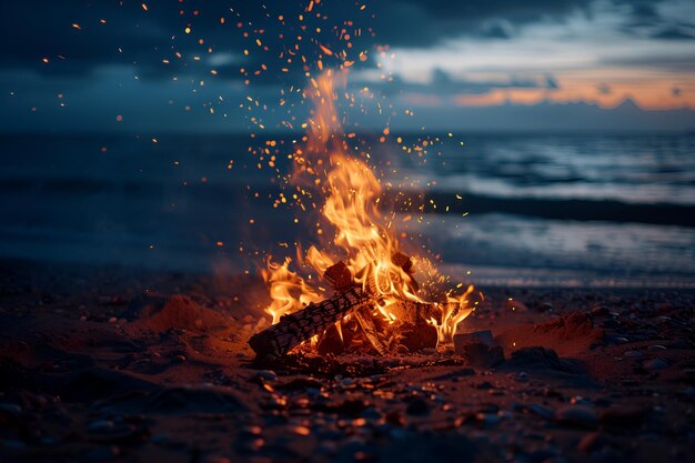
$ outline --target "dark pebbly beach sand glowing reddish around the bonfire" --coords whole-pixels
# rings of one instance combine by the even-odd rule
[[[685,461],[692,291],[482,289],[452,350],[254,362],[253,275],[0,263],[0,461]],[[513,300],[510,301],[510,298]],[[497,352],[498,353],[498,352]]]

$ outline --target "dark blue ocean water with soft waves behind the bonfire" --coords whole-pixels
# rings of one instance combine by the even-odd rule
[[[306,215],[273,208],[299,137],[269,168],[248,135],[0,135],[0,256],[255,272],[312,243]],[[385,198],[425,204],[392,227],[457,280],[695,288],[695,134],[460,133],[403,150],[423,137],[367,137],[370,162]]]

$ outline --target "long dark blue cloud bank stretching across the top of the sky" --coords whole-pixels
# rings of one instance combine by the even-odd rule
[[[141,1],[128,0],[3,1],[0,3],[0,59],[6,68],[48,73],[84,73],[103,64],[118,63],[135,64],[145,77],[170,77],[208,72],[204,59],[190,60],[193,54],[204,58],[209,54],[208,48],[240,54],[250,47],[242,31],[263,30],[264,43],[278,53],[292,42],[288,37],[298,34],[329,43],[335,41],[332,26],[354,20],[363,29],[361,37],[353,38],[357,49],[370,48],[375,41],[394,47],[427,48],[460,37],[510,39],[526,24],[563,21],[577,11],[591,14],[595,1],[377,0],[367,2],[361,11],[363,2],[324,0],[311,14],[304,14],[302,23],[296,18],[308,2],[300,0],[150,2],[149,11],[143,11]],[[632,4],[635,17],[658,18],[651,3],[612,1]],[[282,26],[278,21],[280,14],[285,16]],[[226,19],[225,24],[220,24],[221,17]],[[105,23],[99,22],[102,19]],[[238,22],[242,28],[235,27]],[[81,30],[74,29],[73,23],[80,24]],[[192,29],[190,34],[183,32],[187,26]],[[302,26],[306,29],[302,30]],[[314,32],[318,27],[323,28],[321,33]],[[376,39],[371,30],[376,31]],[[200,39],[204,40],[202,44]],[[309,52],[309,48],[304,52]],[[175,59],[175,52],[185,59]],[[41,62],[44,57],[51,60],[50,67]],[[255,70],[262,59],[252,52],[243,62]],[[169,60],[170,64],[162,60]],[[269,59],[264,63],[271,67],[276,61]],[[241,67],[241,63],[235,64],[229,67],[230,76]],[[259,80],[276,81],[280,69],[269,70]],[[301,67],[298,72],[302,73]]]

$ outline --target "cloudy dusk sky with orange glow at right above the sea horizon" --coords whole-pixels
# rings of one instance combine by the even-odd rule
[[[288,95],[318,72],[300,56],[331,67],[343,51],[341,62],[354,60],[348,87],[363,100],[348,110],[356,128],[695,129],[692,0],[0,8],[6,133],[298,129],[288,114],[301,119],[301,102]]]

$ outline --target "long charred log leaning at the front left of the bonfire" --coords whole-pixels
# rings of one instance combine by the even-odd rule
[[[325,301],[311,303],[303,310],[280,318],[280,321],[254,334],[249,345],[259,358],[272,354],[282,356],[293,348],[323,333],[343,316],[362,305],[372,303],[372,298],[362,288],[351,288]]]

